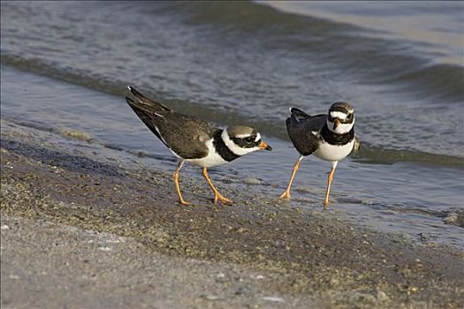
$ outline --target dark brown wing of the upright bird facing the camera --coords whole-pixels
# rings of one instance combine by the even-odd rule
[[[290,109],[291,116],[286,119],[286,129],[293,146],[301,155],[311,155],[317,149],[319,132],[325,124],[326,115],[309,116],[300,109]]]

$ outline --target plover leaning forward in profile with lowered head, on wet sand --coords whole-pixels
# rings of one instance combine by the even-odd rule
[[[134,87],[128,87],[134,100],[126,97],[126,102],[141,121],[155,133],[172,154],[179,158],[174,171],[173,180],[181,205],[189,205],[182,198],[179,187],[179,171],[185,162],[190,162],[202,168],[212,192],[214,202],[224,204],[232,200],[224,198],[213,185],[208,176],[208,168],[231,162],[242,155],[247,155],[259,149],[272,150],[261,139],[261,134],[247,126],[232,126],[225,130],[217,128],[200,119],[178,113],[160,102],[148,99]]]

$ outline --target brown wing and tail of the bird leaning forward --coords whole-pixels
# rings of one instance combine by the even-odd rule
[[[218,128],[205,121],[175,112],[138,92],[134,96],[137,101],[126,97],[126,102],[151,132],[176,155],[184,159],[197,159],[208,155],[205,142],[219,131]]]

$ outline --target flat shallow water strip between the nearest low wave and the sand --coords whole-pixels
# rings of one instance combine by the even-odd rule
[[[80,130],[92,138],[89,147],[101,144],[121,156],[132,154],[133,160],[148,167],[174,170],[171,152],[134,117],[123,98],[9,66],[1,73],[2,117],[7,121],[52,132],[60,128]],[[85,117],[79,117],[82,110],[86,110]],[[285,189],[298,155],[285,140],[267,135],[263,139],[274,148],[271,153],[246,155],[210,169],[224,195],[228,195],[229,185],[248,190],[248,179],[258,180],[258,185],[252,186],[262,195],[277,197]],[[329,162],[305,159],[295,178],[295,200],[290,205],[322,209],[329,170]],[[200,170],[186,165],[182,177],[201,179]],[[372,164],[348,158],[338,164],[330,208],[378,230],[413,238],[422,234],[428,241],[464,248],[462,229],[442,221],[448,212],[462,207],[462,184],[464,176],[453,167],[411,162]]]

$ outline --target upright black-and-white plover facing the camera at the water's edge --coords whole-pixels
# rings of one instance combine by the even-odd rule
[[[296,108],[291,108],[290,113],[290,117],[286,119],[286,128],[300,156],[293,165],[290,181],[279,199],[290,199],[293,177],[303,157],[316,155],[320,159],[331,162],[331,172],[327,178],[327,189],[323,200],[323,206],[327,209],[331,182],[338,161],[346,155],[356,153],[360,146],[354,135],[354,109],[349,103],[335,102],[331,105],[328,114],[309,116]]]

